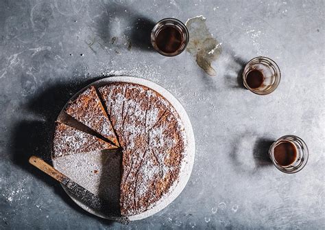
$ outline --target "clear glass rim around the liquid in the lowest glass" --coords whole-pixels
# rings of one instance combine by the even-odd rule
[[[276,159],[274,158],[274,154],[273,154],[274,148],[277,146],[277,144],[280,143],[280,141],[287,139],[288,137],[291,137],[293,139],[298,139],[298,141],[300,141],[302,143],[302,147],[304,148],[304,153],[306,154],[304,156],[304,162],[298,168],[293,169],[291,171],[285,170],[285,168],[281,167],[278,163],[276,163]],[[296,135],[285,135],[285,136],[278,138],[269,147],[269,158],[271,159],[272,163],[274,164],[274,166],[276,166],[276,168],[278,170],[280,170],[281,172],[285,172],[287,174],[293,174],[293,173],[299,172],[300,170],[302,170],[304,168],[304,166],[306,165],[306,163],[308,162],[308,159],[309,159],[309,150],[308,150],[308,147],[307,147],[306,143],[304,142],[304,140],[302,140],[300,137],[298,137]]]

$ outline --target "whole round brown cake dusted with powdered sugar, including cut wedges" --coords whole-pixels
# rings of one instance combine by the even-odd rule
[[[129,82],[90,87],[71,100],[64,113],[75,121],[58,121],[53,159],[118,150],[122,216],[154,207],[178,182],[188,145],[184,124],[156,91]]]

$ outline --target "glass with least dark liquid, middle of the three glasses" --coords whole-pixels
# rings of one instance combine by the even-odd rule
[[[266,57],[250,60],[243,70],[244,86],[258,95],[272,93],[280,83],[281,73],[276,62]]]

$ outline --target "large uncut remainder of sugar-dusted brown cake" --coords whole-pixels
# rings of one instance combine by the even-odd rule
[[[123,148],[121,214],[146,211],[180,174],[186,137],[178,113],[163,96],[132,83],[99,88]]]

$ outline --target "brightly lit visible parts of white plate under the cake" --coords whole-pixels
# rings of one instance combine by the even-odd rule
[[[171,93],[169,93],[169,91],[167,91],[163,87],[160,87],[158,84],[151,82],[149,80],[145,80],[143,78],[134,78],[130,76],[115,76],[115,77],[109,77],[109,78],[97,80],[96,82],[89,84],[87,87],[84,87],[84,89],[81,89],[73,97],[71,97],[71,99],[77,97],[77,95],[82,93],[86,88],[90,87],[91,85],[95,87],[99,87],[103,84],[110,83],[110,82],[130,82],[135,84],[141,84],[145,87],[148,87],[160,93],[160,95],[163,95],[163,97],[165,97],[171,103],[171,105],[176,109],[178,115],[180,115],[180,119],[184,124],[186,137],[188,140],[188,146],[185,150],[184,159],[182,160],[182,166],[180,169],[180,176],[178,182],[174,183],[174,185],[169,189],[169,192],[165,194],[163,198],[158,200],[156,205],[154,205],[151,209],[148,209],[147,211],[144,211],[141,214],[137,214],[129,217],[130,220],[141,220],[143,218],[152,216],[156,214],[158,211],[167,207],[167,205],[173,202],[173,200],[175,200],[178,197],[178,195],[180,195],[187,181],[189,181],[189,177],[191,175],[191,171],[193,168],[194,156],[195,156],[195,139],[194,139],[193,129],[189,117],[187,116],[186,111],[184,110],[180,102],[178,102],[178,100],[176,100],[176,98],[173,97],[173,95],[171,95]],[[62,111],[63,110],[64,108],[62,108]],[[90,190],[94,194],[98,194],[99,191],[97,189],[100,183],[100,178],[99,178],[100,175],[91,173],[91,169],[96,167],[97,168],[101,167],[99,164],[102,164],[102,160],[101,160],[102,154],[103,153],[101,152],[97,152],[94,154],[92,152],[91,154],[81,154],[81,155],[73,154],[73,157],[67,156],[66,159],[64,159],[64,157],[60,157],[58,159],[52,159],[53,166],[54,168],[60,170],[61,172],[69,176],[75,182],[86,187],[86,189]],[[75,168],[77,168],[77,170],[74,170]],[[108,194],[110,194],[110,192],[108,192]],[[112,196],[114,196],[114,194],[112,194]],[[75,201],[75,203],[77,203],[77,205],[79,205],[86,211],[90,212],[91,214],[94,214],[101,218],[106,218],[105,216],[101,216],[101,214],[98,214],[93,209],[87,207],[79,200],[76,200],[73,197],[71,198]]]

